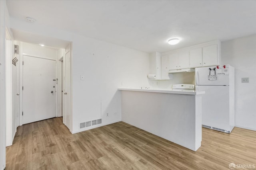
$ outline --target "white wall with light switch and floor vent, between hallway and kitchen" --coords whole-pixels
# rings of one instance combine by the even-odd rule
[[[98,119],[101,114],[102,125],[121,120],[118,87],[149,86],[148,53],[14,18],[11,18],[11,27],[72,41],[73,133],[86,130],[79,129],[79,123]],[[80,75],[85,79],[80,80]]]

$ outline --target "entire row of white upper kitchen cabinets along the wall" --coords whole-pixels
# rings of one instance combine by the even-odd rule
[[[221,46],[220,41],[210,41],[191,47],[176,49],[161,53],[161,66],[158,72],[157,79],[166,80],[168,70],[180,70],[183,68],[196,68],[202,66],[215,66],[221,64]],[[153,53],[154,70],[159,66],[159,53]],[[158,61],[158,62],[156,62]],[[150,62],[150,63],[152,63]],[[168,64],[166,64],[168,63]],[[153,68],[153,67],[152,67]],[[160,76],[159,76],[160,75]],[[167,78],[168,79],[168,78]]]

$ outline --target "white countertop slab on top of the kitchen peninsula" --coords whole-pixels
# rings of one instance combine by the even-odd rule
[[[204,91],[201,92],[185,92],[185,91],[174,91],[168,89],[140,89],[140,88],[118,88],[118,90],[126,90],[126,91],[138,91],[138,92],[155,92],[155,93],[171,93],[171,94],[188,94],[188,95],[200,95],[205,94]]]

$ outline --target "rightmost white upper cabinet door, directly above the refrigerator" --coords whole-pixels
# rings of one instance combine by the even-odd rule
[[[217,65],[218,64],[218,49],[216,45],[203,47],[203,66]]]

